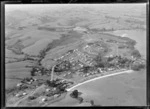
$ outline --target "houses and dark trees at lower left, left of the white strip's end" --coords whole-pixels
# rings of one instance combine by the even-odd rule
[[[9,96],[8,98],[11,97],[16,101],[28,96],[24,99],[28,103],[32,101],[36,101],[37,104],[46,103],[60,97],[61,94],[66,92],[66,88],[72,84],[72,81],[66,81],[63,79],[50,81],[31,77],[24,78],[13,88],[13,90],[7,90],[6,93],[7,96]]]

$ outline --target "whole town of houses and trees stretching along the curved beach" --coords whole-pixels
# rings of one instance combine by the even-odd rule
[[[54,59],[56,65],[49,69],[42,66],[33,67],[30,78],[24,78],[6,93],[16,99],[26,96],[28,102],[47,103],[61,97],[67,92],[67,88],[94,75],[102,76],[110,74],[111,71],[139,70],[145,67],[144,59],[137,55],[131,54],[131,57],[127,58],[121,55],[106,55],[107,52],[107,46],[99,42],[69,50],[63,56]],[[51,79],[36,78],[43,75]]]

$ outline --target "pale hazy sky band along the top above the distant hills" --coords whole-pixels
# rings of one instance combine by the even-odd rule
[[[16,9],[20,10],[28,10],[28,11],[40,11],[45,9],[59,9],[59,8],[67,8],[67,7],[80,7],[87,6],[92,8],[116,8],[116,9],[125,9],[128,7],[145,7],[146,3],[140,4],[6,4],[5,10],[12,11]]]

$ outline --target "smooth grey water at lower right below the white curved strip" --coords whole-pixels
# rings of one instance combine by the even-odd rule
[[[84,102],[94,100],[95,105],[144,106],[146,105],[146,72],[143,70],[98,79],[75,89],[82,92],[81,97]],[[70,93],[65,99],[51,106],[77,106],[78,101],[71,98]]]

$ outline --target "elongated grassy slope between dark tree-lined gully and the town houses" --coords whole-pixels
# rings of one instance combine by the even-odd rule
[[[81,43],[81,37],[81,34],[71,32],[68,35],[62,35],[60,39],[54,40],[52,43],[48,44],[47,48],[45,49],[45,51],[47,51],[47,54],[42,60],[42,65],[44,67],[47,67],[48,64],[51,64],[50,59],[61,56],[68,50],[75,48],[78,44]],[[49,62],[47,63],[47,61]]]

